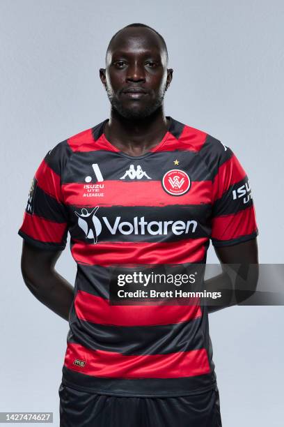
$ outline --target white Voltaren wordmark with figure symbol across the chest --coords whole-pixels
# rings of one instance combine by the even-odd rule
[[[131,222],[124,221],[121,216],[115,218],[107,218],[102,216],[97,218],[96,213],[99,207],[94,207],[90,212],[86,208],[81,208],[81,213],[74,211],[78,217],[78,225],[84,231],[86,239],[90,239],[90,243],[96,244],[97,237],[101,234],[104,227],[104,238],[108,234],[111,235],[129,235],[135,234],[143,236],[150,234],[151,236],[167,235],[169,233],[179,236],[180,234],[190,234],[196,232],[198,225],[196,220],[145,220],[145,216],[135,216]]]

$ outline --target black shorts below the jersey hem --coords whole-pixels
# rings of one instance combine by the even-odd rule
[[[60,427],[221,427],[216,386],[194,396],[120,397],[61,383]]]

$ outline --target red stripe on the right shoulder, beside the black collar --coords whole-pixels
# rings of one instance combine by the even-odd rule
[[[205,143],[206,137],[207,133],[202,130],[185,125],[178,140],[171,135],[171,137],[168,137],[165,144],[159,147],[157,151],[200,151]]]

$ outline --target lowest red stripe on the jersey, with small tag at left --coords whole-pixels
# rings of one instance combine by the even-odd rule
[[[76,359],[85,361],[85,366],[74,365]],[[94,377],[180,378],[210,373],[205,348],[170,354],[126,356],[68,343],[64,365],[68,369]]]

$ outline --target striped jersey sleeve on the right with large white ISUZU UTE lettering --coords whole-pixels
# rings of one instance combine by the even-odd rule
[[[232,150],[222,144],[212,182],[212,244],[230,246],[257,235],[248,176]]]

